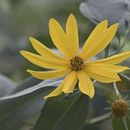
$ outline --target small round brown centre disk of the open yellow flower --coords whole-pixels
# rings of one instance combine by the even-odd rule
[[[73,71],[79,71],[83,69],[84,61],[81,57],[75,56],[70,60],[70,64]]]

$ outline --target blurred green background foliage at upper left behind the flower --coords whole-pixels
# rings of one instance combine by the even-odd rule
[[[85,40],[87,20],[80,14],[80,0],[0,0],[0,73],[21,81],[27,68],[36,68],[20,54],[33,50],[28,38],[33,36],[48,47],[54,47],[48,32],[50,18],[65,25],[73,13],[79,25],[80,39]],[[81,41],[82,43],[82,41]],[[33,50],[34,51],[34,50]]]

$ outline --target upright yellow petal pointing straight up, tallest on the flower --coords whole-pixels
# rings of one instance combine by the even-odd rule
[[[78,26],[74,15],[70,15],[66,24],[66,36],[67,44],[70,48],[72,56],[78,55],[79,49],[79,37],[78,37]]]

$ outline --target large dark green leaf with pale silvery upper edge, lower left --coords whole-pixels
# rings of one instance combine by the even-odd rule
[[[59,83],[57,80],[39,81],[39,84],[35,81],[26,80],[12,95],[0,98],[0,129],[21,129],[27,121],[41,112],[44,105],[43,96],[52,90],[51,86]]]

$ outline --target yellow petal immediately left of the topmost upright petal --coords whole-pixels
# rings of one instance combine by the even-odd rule
[[[66,58],[72,58],[65,32],[55,19],[51,19],[49,22],[49,32],[55,46],[64,54]]]

